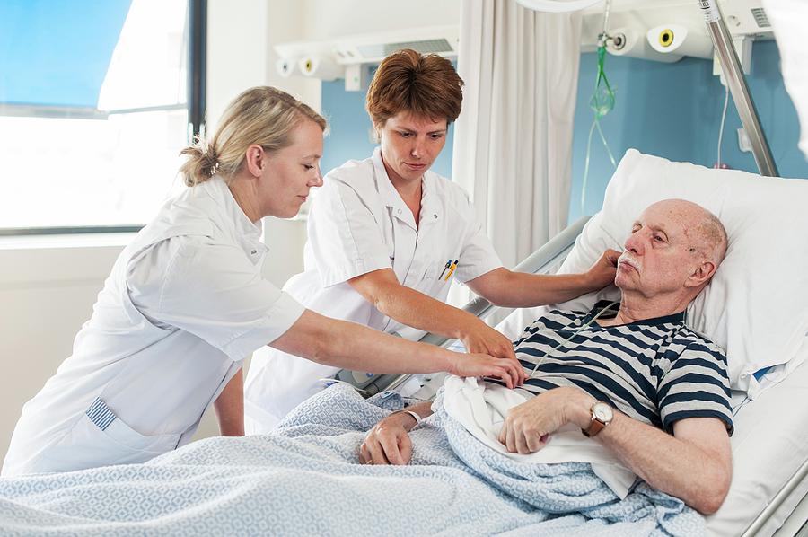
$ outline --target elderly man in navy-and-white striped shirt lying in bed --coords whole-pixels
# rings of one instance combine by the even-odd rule
[[[724,226],[703,207],[681,199],[648,207],[619,258],[619,308],[550,311],[515,343],[527,377],[518,390],[534,397],[508,412],[499,435],[507,451],[538,451],[572,423],[655,489],[714,513],[732,479],[726,358],[685,325],[685,309],[725,251]],[[431,414],[429,403],[408,410]],[[408,463],[415,425],[406,412],[384,418],[360,461]]]

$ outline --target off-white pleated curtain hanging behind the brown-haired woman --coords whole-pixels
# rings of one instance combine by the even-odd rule
[[[506,267],[566,227],[580,43],[579,14],[461,2],[452,180]]]

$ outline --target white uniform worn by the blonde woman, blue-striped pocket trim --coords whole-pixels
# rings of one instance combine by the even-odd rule
[[[261,277],[267,247],[224,180],[166,203],[121,252],[73,356],[22,409],[3,475],[144,462],[303,306]]]

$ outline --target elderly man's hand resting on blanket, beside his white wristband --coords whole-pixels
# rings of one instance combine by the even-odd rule
[[[382,419],[364,437],[359,448],[362,464],[408,464],[412,458],[412,441],[408,431],[416,420],[406,412],[396,412]]]

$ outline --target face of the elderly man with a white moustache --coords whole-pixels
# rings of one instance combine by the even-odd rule
[[[648,298],[680,291],[698,268],[698,215],[672,201],[648,207],[639,216],[618,260],[614,283]]]

